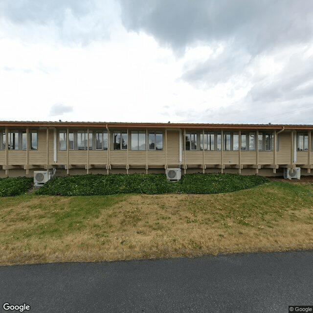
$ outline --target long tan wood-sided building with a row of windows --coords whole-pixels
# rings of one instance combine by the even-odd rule
[[[313,125],[0,122],[0,177],[226,172],[313,167]]]

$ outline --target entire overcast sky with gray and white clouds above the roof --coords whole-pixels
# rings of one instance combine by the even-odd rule
[[[1,0],[0,109],[313,124],[313,0]]]

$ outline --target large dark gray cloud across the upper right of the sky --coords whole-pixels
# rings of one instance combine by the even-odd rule
[[[311,0],[120,0],[129,30],[151,34],[184,50],[197,42],[232,42],[250,54],[307,42],[313,34]]]

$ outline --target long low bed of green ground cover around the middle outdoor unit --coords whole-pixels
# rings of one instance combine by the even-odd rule
[[[56,177],[38,189],[37,195],[95,196],[114,194],[216,194],[252,188],[268,182],[259,176],[238,174],[187,174],[171,182],[164,174],[77,175]]]

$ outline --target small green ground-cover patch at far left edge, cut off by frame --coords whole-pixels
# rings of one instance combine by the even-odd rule
[[[0,179],[0,197],[19,196],[27,192],[33,180],[27,177]]]

